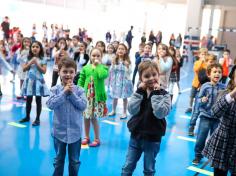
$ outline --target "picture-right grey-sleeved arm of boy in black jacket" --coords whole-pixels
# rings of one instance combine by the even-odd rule
[[[170,95],[164,90],[154,90],[150,94],[153,114],[158,119],[165,118],[171,109]]]

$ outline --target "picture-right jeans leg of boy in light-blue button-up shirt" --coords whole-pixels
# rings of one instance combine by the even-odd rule
[[[78,175],[80,166],[80,149],[81,139],[75,143],[68,144],[68,155],[69,155],[69,175]]]

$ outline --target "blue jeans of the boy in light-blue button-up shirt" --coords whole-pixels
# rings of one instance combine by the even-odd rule
[[[66,146],[68,145],[69,155],[69,176],[77,176],[80,166],[79,156],[81,148],[81,139],[72,144],[61,142],[54,137],[54,148],[56,151],[56,157],[54,159],[54,172],[53,176],[63,176],[64,163],[66,157]]]

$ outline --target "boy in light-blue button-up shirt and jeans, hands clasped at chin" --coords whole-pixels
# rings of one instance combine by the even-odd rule
[[[63,175],[68,146],[69,175],[77,176],[80,166],[80,149],[82,135],[82,113],[87,100],[84,90],[73,84],[76,64],[66,58],[58,63],[61,85],[51,88],[47,106],[54,111],[52,136],[56,157],[53,176]]]

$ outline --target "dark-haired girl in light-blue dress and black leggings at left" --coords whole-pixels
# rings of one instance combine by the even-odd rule
[[[22,85],[21,94],[26,96],[26,117],[19,122],[24,123],[30,120],[31,104],[33,96],[36,97],[36,119],[33,126],[40,125],[40,114],[42,110],[42,96],[48,96],[49,90],[45,84],[43,74],[47,71],[47,61],[44,58],[43,46],[40,42],[34,41],[30,46],[29,56],[23,65],[26,77]]]

